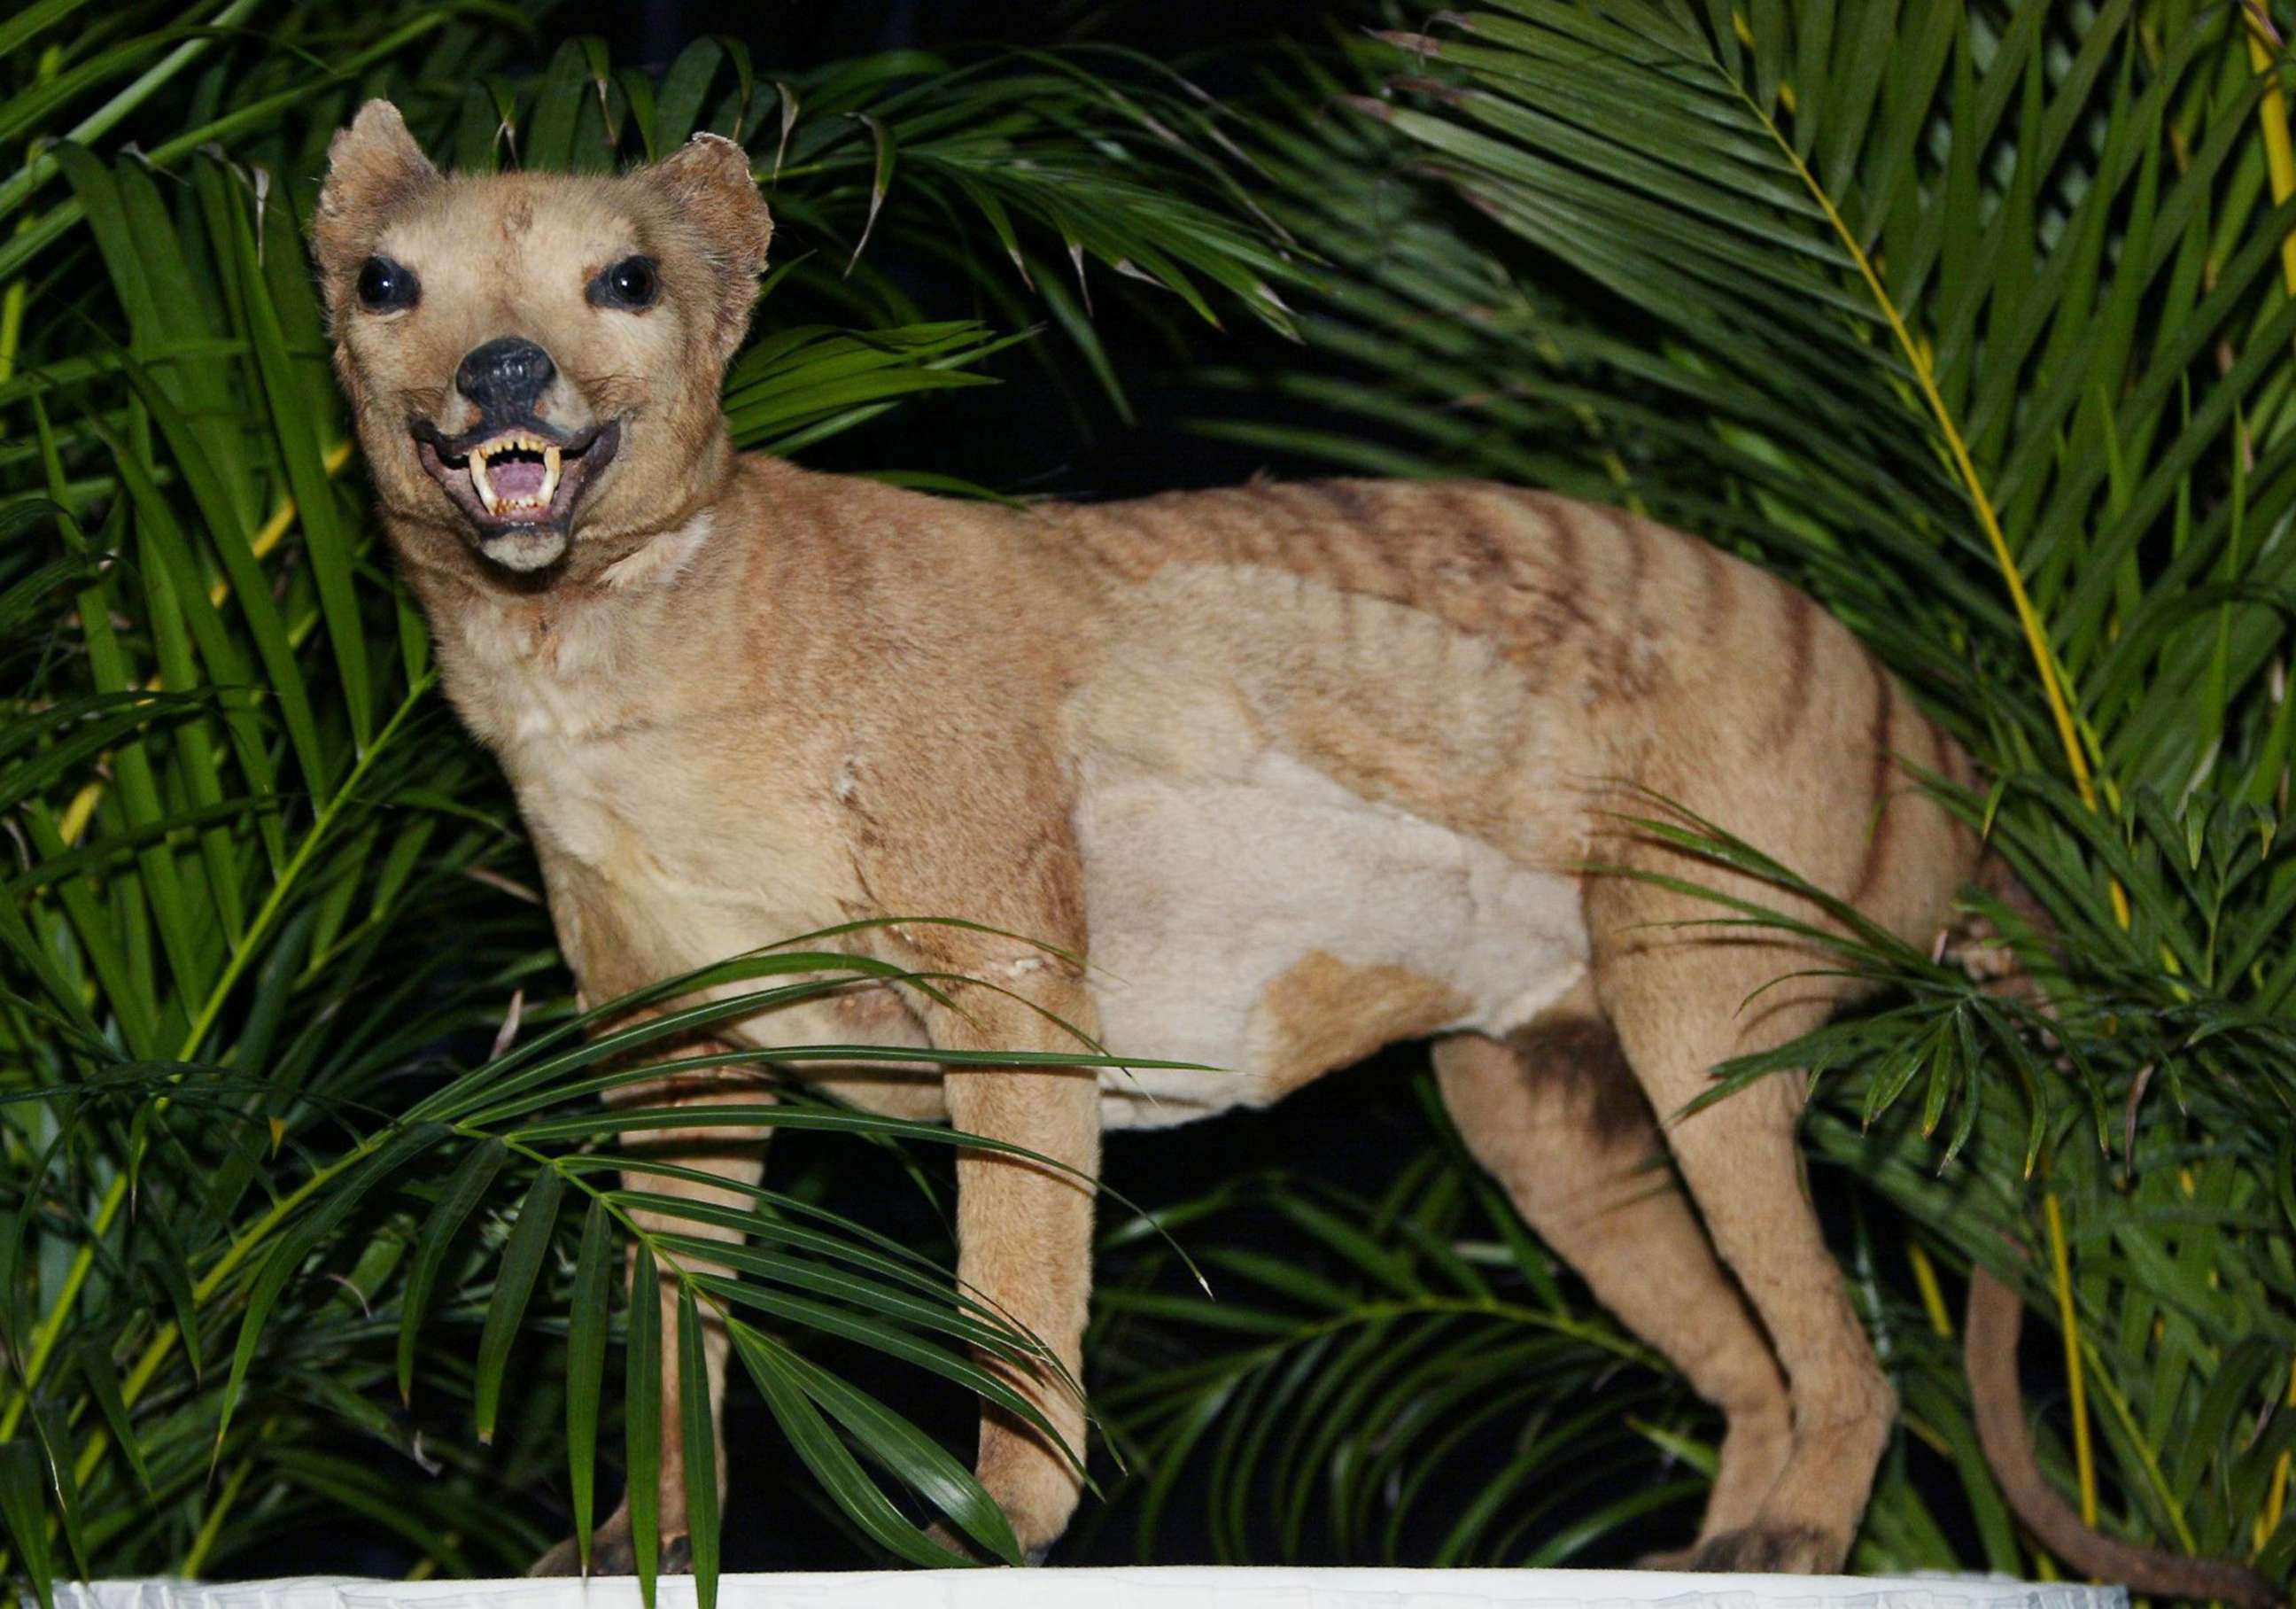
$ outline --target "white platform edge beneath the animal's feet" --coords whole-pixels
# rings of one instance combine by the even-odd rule
[[[592,1581],[92,1581],[57,1609],[641,1609],[631,1577]],[[693,1609],[661,1577],[659,1609]],[[719,1609],[2128,1609],[2119,1586],[1988,1577],[1660,1575],[1644,1570],[854,1570],[726,1575]]]

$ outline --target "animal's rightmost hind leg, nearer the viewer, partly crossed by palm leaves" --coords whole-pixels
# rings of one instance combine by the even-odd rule
[[[1743,1526],[1708,1538],[1701,1570],[1839,1570],[1864,1515],[1896,1400],[1851,1311],[1802,1182],[1800,1074],[1770,1074],[1694,1113],[1715,1063],[1773,1049],[1821,1024],[1839,985],[1814,978],[1766,989],[1807,966],[1777,943],[1667,927],[1713,907],[1623,877],[1587,893],[1596,994],[1651,1106],[1665,1113],[1674,1164],[1738,1276],[1786,1370],[1793,1446]],[[1685,936],[1690,934],[1690,936]]]

